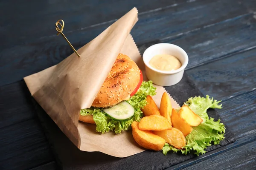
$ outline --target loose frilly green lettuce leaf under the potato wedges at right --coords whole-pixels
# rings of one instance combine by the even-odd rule
[[[196,114],[198,114],[204,122],[202,122],[197,127],[192,127],[192,132],[186,136],[186,146],[181,150],[172,147],[169,144],[165,144],[163,147],[163,154],[167,154],[170,150],[173,152],[181,151],[183,154],[187,154],[192,150],[196,155],[200,153],[206,153],[205,149],[211,144],[219,144],[221,140],[224,139],[225,126],[220,123],[220,120],[214,121],[213,118],[209,118],[207,115],[208,108],[221,108],[218,103],[221,101],[216,101],[209,98],[207,95],[204,97],[191,97],[185,103],[191,108]]]

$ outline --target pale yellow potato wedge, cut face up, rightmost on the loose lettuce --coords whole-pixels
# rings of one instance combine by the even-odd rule
[[[190,126],[198,126],[201,122],[203,122],[203,119],[195,114],[187,105],[183,105],[180,108],[178,115],[182,119],[184,119]]]

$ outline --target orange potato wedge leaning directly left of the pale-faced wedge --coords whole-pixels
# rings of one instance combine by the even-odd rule
[[[178,115],[175,109],[172,109],[171,120],[172,120],[172,127],[175,127],[178,130],[180,130],[185,137],[192,132],[193,128],[189,126],[189,124]]]

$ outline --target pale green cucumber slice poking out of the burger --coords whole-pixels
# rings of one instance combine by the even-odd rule
[[[134,116],[134,107],[127,101],[120,102],[111,108],[103,109],[103,111],[116,121],[127,121]]]

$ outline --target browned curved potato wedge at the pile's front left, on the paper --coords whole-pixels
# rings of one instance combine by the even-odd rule
[[[139,122],[134,121],[131,124],[132,136],[134,140],[141,146],[150,150],[161,150],[165,144],[165,140],[160,136],[155,135],[151,131],[140,130]]]

